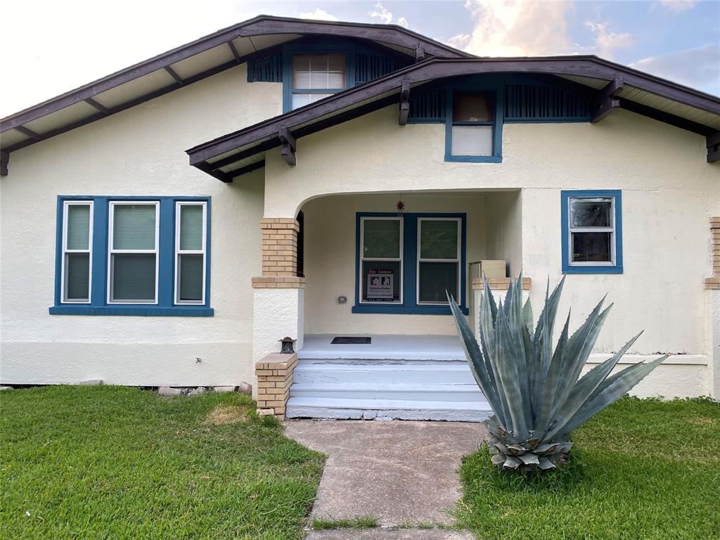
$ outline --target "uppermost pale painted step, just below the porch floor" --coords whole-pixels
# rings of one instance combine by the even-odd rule
[[[352,364],[301,360],[294,369],[293,381],[302,384],[475,384],[466,362]]]

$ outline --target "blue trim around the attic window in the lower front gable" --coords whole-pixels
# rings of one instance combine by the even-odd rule
[[[446,86],[445,95],[445,161],[457,163],[503,163],[503,120],[505,117],[505,83],[500,79],[469,79]],[[452,155],[452,106],[456,92],[482,92],[492,94],[495,100],[495,120],[492,122],[492,156]]]

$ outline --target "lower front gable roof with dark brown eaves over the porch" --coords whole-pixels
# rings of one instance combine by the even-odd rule
[[[720,98],[592,55],[430,58],[186,152],[192,166],[222,181],[232,181],[264,165],[266,150],[283,144],[282,130],[300,138],[399,103],[403,84],[412,94],[413,88],[438,78],[479,73],[543,73],[567,78],[585,86],[598,107],[606,99],[617,100],[624,109],[708,136],[708,148],[710,137],[720,130]]]

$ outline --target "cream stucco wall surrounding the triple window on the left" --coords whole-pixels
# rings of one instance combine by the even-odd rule
[[[251,382],[263,171],[222,184],[190,167],[184,150],[281,112],[282,85],[248,84],[238,66],[13,152],[0,180],[0,380]],[[212,196],[215,316],[49,315],[58,194]]]

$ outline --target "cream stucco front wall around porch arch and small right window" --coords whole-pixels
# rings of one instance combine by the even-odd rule
[[[265,216],[295,215],[323,194],[389,185],[405,194],[522,189],[520,204],[508,207],[521,212],[513,235],[522,239],[518,253],[539,312],[546,279],[562,276],[560,190],[621,189],[624,274],[568,276],[560,312],[572,305],[577,326],[608,292],[617,306],[598,352],[616,351],[644,328],[631,352],[706,354],[703,277],[711,270],[708,218],[720,212],[720,166],[706,163],[705,152],[701,136],[621,110],[598,125],[505,125],[503,163],[446,163],[442,126],[400,127],[396,107],[388,107],[300,139],[297,166],[268,153]],[[326,309],[335,309],[338,292]]]

